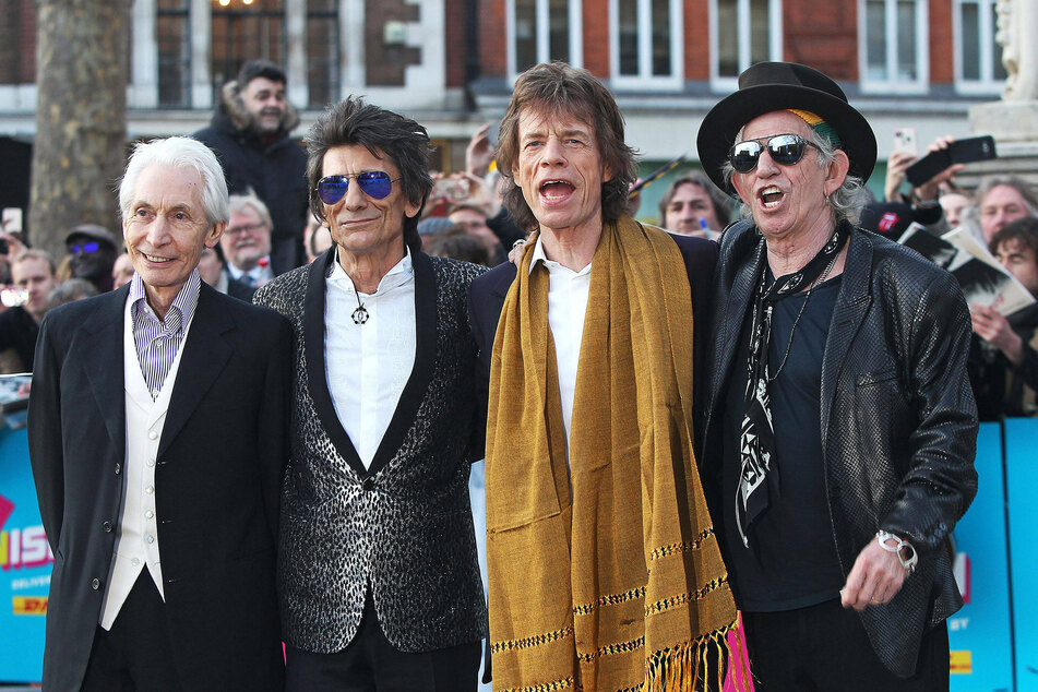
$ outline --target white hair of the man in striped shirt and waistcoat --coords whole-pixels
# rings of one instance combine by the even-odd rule
[[[133,204],[133,188],[138,177],[152,165],[196,170],[202,178],[202,208],[210,226],[227,223],[230,213],[224,169],[210,147],[186,136],[140,142],[133,147],[127,171],[119,183],[119,208],[123,219],[129,218],[132,212],[130,205]]]

